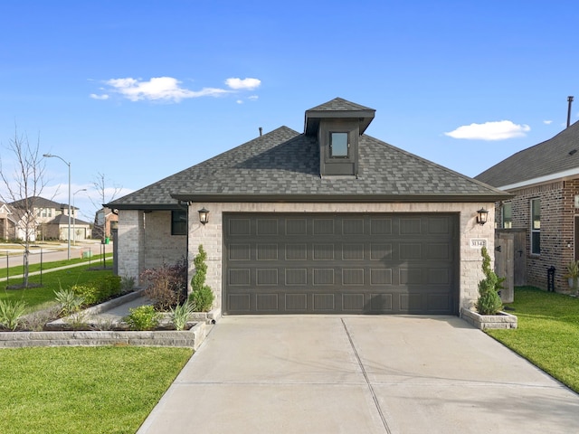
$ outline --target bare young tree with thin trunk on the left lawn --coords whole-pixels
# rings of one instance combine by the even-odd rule
[[[5,203],[15,203],[14,208],[20,212],[21,229],[24,232],[24,288],[28,287],[28,256],[30,244],[36,237],[35,202],[43,193],[44,162],[40,154],[40,135],[35,145],[31,145],[26,134],[20,134],[14,127],[14,137],[8,140],[5,148],[12,158],[0,156],[0,178],[4,184],[0,189],[0,199]],[[4,164],[13,165],[12,170]]]

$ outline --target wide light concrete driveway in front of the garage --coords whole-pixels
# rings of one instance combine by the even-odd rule
[[[226,316],[138,433],[570,433],[579,396],[458,317]]]

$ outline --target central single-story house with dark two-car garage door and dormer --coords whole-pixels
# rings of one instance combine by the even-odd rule
[[[366,136],[375,110],[332,99],[106,206],[121,276],[207,251],[223,314],[459,315],[478,297],[482,208],[507,193]],[[201,222],[201,212],[209,221]]]

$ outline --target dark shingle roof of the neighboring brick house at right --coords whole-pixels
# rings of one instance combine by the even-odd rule
[[[579,122],[545,142],[509,156],[475,179],[503,187],[571,169],[579,169]]]

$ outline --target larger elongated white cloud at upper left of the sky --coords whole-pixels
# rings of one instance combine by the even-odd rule
[[[148,99],[179,102],[187,98],[217,97],[228,92],[228,90],[215,88],[188,90],[182,88],[181,81],[173,77],[154,77],[148,81],[128,77],[108,80],[107,84],[131,101]]]

